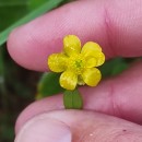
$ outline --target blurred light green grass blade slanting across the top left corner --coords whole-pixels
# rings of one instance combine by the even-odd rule
[[[14,23],[13,25],[11,25],[10,27],[8,27],[5,31],[0,33],[0,45],[2,45],[3,43],[7,42],[8,36],[13,28],[15,28],[22,24],[25,24],[25,23],[29,22],[31,20],[44,14],[45,12],[56,8],[62,1],[63,0],[49,0],[46,3],[44,3],[43,5],[40,5],[39,8],[32,11],[29,14],[27,14],[23,19],[21,19],[20,21],[17,21],[16,23]]]

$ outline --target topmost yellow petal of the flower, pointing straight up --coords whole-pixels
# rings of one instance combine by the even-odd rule
[[[72,54],[80,54],[81,51],[81,42],[75,35],[68,35],[63,38],[64,52],[68,56]]]

